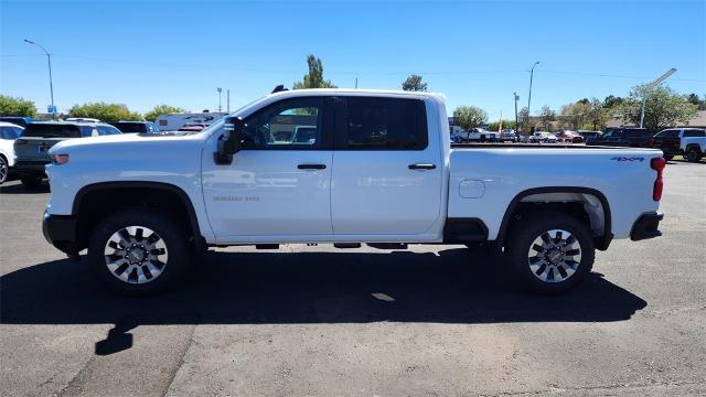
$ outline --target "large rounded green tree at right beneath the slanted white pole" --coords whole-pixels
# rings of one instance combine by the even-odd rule
[[[667,86],[648,89],[645,85],[635,86],[627,100],[625,117],[633,124],[640,124],[642,101],[644,106],[644,127],[656,131],[678,124],[688,124],[696,116],[698,106],[688,101],[685,96],[676,94]]]

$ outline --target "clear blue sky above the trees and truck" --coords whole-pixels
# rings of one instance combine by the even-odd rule
[[[584,97],[623,96],[671,67],[668,85],[706,94],[706,1],[220,2],[0,0],[0,93],[49,104],[55,54],[60,110],[111,101],[232,108],[321,57],[340,87],[399,88],[410,73],[459,105],[514,117],[535,61],[533,112]],[[224,95],[225,107],[225,95]]]

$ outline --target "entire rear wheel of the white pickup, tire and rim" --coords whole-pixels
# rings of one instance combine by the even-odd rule
[[[543,270],[541,265],[536,265],[537,259],[539,259],[539,256],[543,254],[533,247],[537,238],[542,239],[546,232],[556,229],[568,232],[575,237],[576,243],[573,243],[573,246],[564,245],[564,248],[560,248],[564,243],[558,243],[558,248],[545,250],[545,254],[554,255],[556,253],[560,258],[564,258],[566,254],[566,261],[560,261],[559,265],[556,266],[544,265],[545,268]],[[517,279],[520,279],[522,285],[528,290],[543,294],[558,294],[576,287],[590,275],[596,258],[596,249],[589,228],[577,218],[560,212],[546,211],[524,217],[513,225],[506,242],[506,258]],[[554,246],[554,242],[555,239],[550,238],[549,244]],[[576,244],[578,244],[578,247]],[[580,259],[578,261],[573,260],[575,258],[574,256],[569,256],[569,254],[576,250],[574,248],[578,248],[579,250],[578,255],[580,255]],[[566,251],[561,253],[564,249],[566,249]],[[537,253],[537,256],[531,258],[530,255],[534,251]],[[536,267],[537,275],[533,271],[531,262],[533,262],[532,266]],[[547,259],[539,259],[539,264],[542,262],[547,264]],[[569,262],[570,265],[568,265]],[[561,269],[559,269],[559,267]],[[568,267],[574,267],[574,269]],[[569,275],[566,271],[567,269],[573,271],[573,273]],[[542,280],[541,278],[543,276],[545,276],[547,280]],[[557,281],[557,279],[560,280]]]

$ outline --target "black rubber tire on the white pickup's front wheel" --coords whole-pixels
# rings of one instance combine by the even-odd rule
[[[118,268],[114,273],[108,268],[107,256],[105,255],[106,245],[109,244],[115,233],[129,226],[139,226],[153,230],[163,243],[165,249],[163,253],[168,254],[163,267],[161,267],[162,262],[159,260],[156,264],[161,267],[161,272],[157,277],[152,276],[143,283],[138,283],[135,279],[131,282],[124,281],[118,278],[118,273],[122,275],[127,270],[119,271]],[[117,246],[117,249],[119,248],[120,246]],[[122,250],[122,254],[126,253],[126,249]],[[145,256],[152,254],[145,249],[140,253],[145,253]],[[174,287],[189,269],[192,254],[184,225],[172,221],[172,217],[168,214],[146,208],[127,208],[109,215],[94,228],[88,244],[88,262],[96,276],[113,291],[128,296],[153,294]],[[120,255],[116,257],[122,260]],[[126,255],[125,258],[127,257]],[[143,269],[150,264],[153,262],[145,262],[143,266],[138,265],[138,267]],[[142,272],[146,276],[149,270],[142,270]],[[135,273],[137,275],[137,271]],[[151,276],[151,272],[149,273]]]

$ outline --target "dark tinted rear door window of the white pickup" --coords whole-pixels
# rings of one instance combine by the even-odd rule
[[[420,99],[346,97],[342,110],[339,116],[336,109],[336,149],[424,150],[428,146]]]

